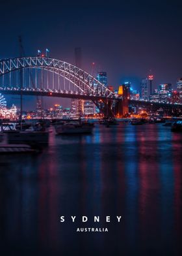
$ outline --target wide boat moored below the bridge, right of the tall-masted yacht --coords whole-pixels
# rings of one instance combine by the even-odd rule
[[[85,134],[92,133],[93,125],[89,123],[80,123],[79,121],[70,121],[64,123],[63,125],[56,125],[55,130],[57,134],[67,135],[67,134]]]

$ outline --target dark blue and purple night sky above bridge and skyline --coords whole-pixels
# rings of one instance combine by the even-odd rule
[[[0,58],[19,56],[21,35],[27,56],[49,48],[51,57],[75,63],[74,48],[81,47],[82,68],[91,72],[95,62],[114,88],[130,80],[139,89],[149,70],[154,87],[175,86],[182,76],[181,7],[177,1],[1,0]]]

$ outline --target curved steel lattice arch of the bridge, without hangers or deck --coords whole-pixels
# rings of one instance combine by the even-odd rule
[[[72,82],[79,90],[79,93],[83,95],[115,97],[114,93],[101,84],[94,76],[79,69],[79,67],[59,59],[50,57],[15,57],[0,60],[0,76],[26,68],[44,69],[45,71],[62,76]]]

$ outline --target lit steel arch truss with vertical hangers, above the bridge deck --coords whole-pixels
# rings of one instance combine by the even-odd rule
[[[49,57],[16,57],[1,60],[0,78],[0,90],[12,93],[23,90],[30,95],[57,93],[65,97],[115,97],[112,91],[88,72],[65,61]]]

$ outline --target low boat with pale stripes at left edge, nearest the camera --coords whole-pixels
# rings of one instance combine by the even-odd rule
[[[0,144],[0,153],[33,153],[31,146],[25,144]]]

